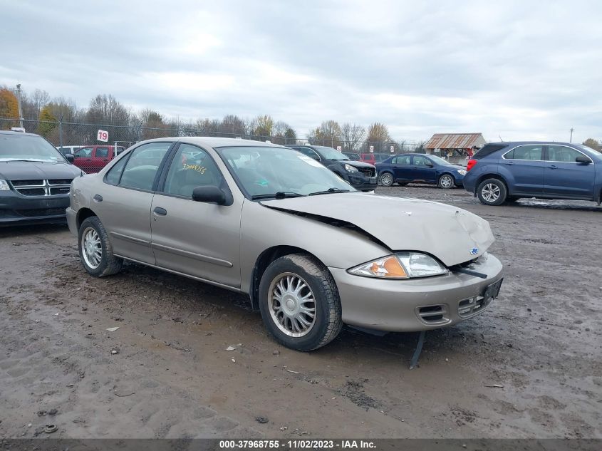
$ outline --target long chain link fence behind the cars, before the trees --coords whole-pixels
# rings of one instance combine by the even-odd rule
[[[185,137],[185,136],[213,136],[222,138],[242,138],[262,142],[272,142],[279,145],[313,144],[333,147],[342,152],[353,153],[381,153],[394,155],[407,152],[424,152],[422,144],[413,142],[390,141],[345,141],[337,138],[328,139],[302,139],[287,138],[286,136],[261,136],[237,133],[222,133],[212,130],[194,128],[194,125],[182,125],[178,128],[152,128],[140,125],[106,125],[90,123],[72,123],[64,121],[22,120],[22,126],[27,133],[42,135],[56,147],[84,147],[90,145],[118,145],[129,147],[138,141],[152,138]],[[0,130],[11,130],[20,127],[20,121],[15,119],[0,118]],[[98,130],[108,134],[108,141],[98,140]]]

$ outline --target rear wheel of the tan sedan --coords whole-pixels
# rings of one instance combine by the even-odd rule
[[[121,271],[123,260],[113,255],[108,234],[97,216],[81,223],[78,244],[81,263],[90,276],[111,276]]]

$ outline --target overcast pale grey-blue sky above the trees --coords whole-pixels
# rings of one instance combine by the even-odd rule
[[[602,138],[602,1],[0,0],[0,85],[395,139]],[[155,5],[161,4],[161,5]]]

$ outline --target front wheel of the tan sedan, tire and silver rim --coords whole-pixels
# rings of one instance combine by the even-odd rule
[[[259,283],[259,310],[271,336],[296,351],[325,346],[343,327],[332,274],[305,254],[271,262]]]

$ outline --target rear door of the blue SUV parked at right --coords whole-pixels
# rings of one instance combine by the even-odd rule
[[[519,145],[499,160],[509,172],[510,192],[541,195],[544,192],[544,145]]]

